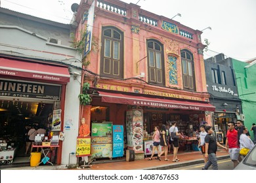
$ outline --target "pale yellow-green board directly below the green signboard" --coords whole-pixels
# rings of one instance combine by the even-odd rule
[[[112,144],[91,144],[92,158],[112,158]]]

